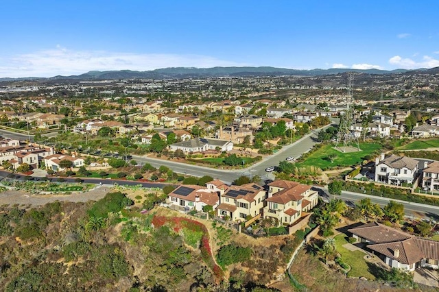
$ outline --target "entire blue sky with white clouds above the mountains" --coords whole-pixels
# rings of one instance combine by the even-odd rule
[[[4,0],[0,77],[439,66],[439,1]]]

